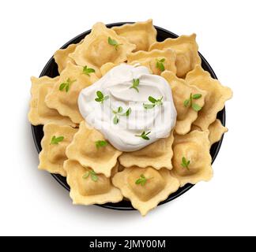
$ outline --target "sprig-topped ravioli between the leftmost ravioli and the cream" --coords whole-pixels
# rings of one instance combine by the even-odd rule
[[[80,91],[96,82],[94,73],[90,76],[83,73],[83,68],[69,62],[55,83],[45,102],[51,109],[57,109],[62,116],[70,117],[75,124],[79,124],[83,117],[79,112],[77,98]]]

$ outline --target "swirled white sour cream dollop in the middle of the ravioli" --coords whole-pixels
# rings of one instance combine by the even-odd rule
[[[139,80],[138,92],[133,80]],[[96,102],[96,92],[101,91],[109,98],[104,102]],[[149,96],[162,98],[162,105],[145,109],[143,104],[149,102]],[[119,107],[122,113],[115,114]],[[78,107],[87,124],[99,130],[116,149],[134,151],[170,135],[175,126],[176,110],[171,88],[161,76],[152,75],[144,66],[121,64],[115,66],[96,83],[83,89],[78,98]],[[122,115],[131,109],[128,117]],[[114,124],[117,116],[119,122]],[[140,136],[148,133],[149,139]]]

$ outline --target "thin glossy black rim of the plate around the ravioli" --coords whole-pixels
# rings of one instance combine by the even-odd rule
[[[122,24],[134,24],[134,22],[118,22],[118,23],[111,23],[111,24],[106,24],[107,28],[111,28],[111,27],[114,27],[114,26],[121,26]],[[157,31],[162,31],[162,32],[165,32],[165,33],[168,33],[168,35],[172,36],[172,37],[179,37],[178,35],[176,35],[175,33],[171,32],[171,31],[168,31],[164,28],[160,28],[158,26],[154,26],[156,28]],[[74,43],[74,41],[76,41],[77,39],[80,39],[81,37],[87,35],[91,30],[88,30],[88,31],[84,31],[82,32],[80,35],[77,35],[75,36],[73,39],[70,39],[70,41],[68,41],[67,43],[65,43],[60,49],[65,49],[67,46],[70,45],[70,43]],[[216,74],[215,72],[213,71],[212,67],[209,65],[209,62],[206,61],[205,57],[203,57],[200,52],[198,52],[198,54],[200,55],[201,57],[201,61],[202,63],[205,65],[205,68],[207,69],[207,71],[210,72],[211,76],[217,80],[217,77],[216,77]],[[50,58],[49,61],[47,61],[47,64],[44,66],[42,72],[40,73],[40,77],[41,76],[44,76],[45,73],[47,72],[47,69],[49,68],[49,66],[51,65],[53,61],[53,56]],[[225,107],[224,109],[222,109],[219,113],[221,113],[220,115],[220,120],[221,120],[221,123],[225,126],[226,124],[226,111],[225,111]],[[33,137],[33,140],[34,140],[34,143],[36,145],[36,150],[38,153],[40,153],[40,146],[37,144],[37,141],[36,141],[36,131],[35,131],[35,128],[36,126],[34,125],[31,125],[31,128],[32,128],[32,137]],[[212,156],[212,164],[213,162],[215,161],[216,159],[216,156],[217,154],[219,153],[220,151],[220,146],[222,144],[222,141],[223,141],[223,138],[224,138],[224,135],[222,135],[220,141],[218,143],[215,143],[214,146],[214,154]],[[70,191],[70,187],[67,186],[66,183],[64,183],[61,179],[60,179],[60,175],[58,174],[53,174],[51,173],[51,176],[53,176],[55,178],[55,180],[60,184],[62,185],[62,187],[64,187],[67,191]],[[190,184],[190,183],[187,183],[185,186],[183,187],[180,187],[179,188],[179,191],[175,192],[174,194],[170,195],[166,200],[164,200],[163,202],[160,202],[160,205],[163,205],[167,202],[171,202],[172,200],[174,200],[175,198],[178,198],[179,196],[183,195],[184,193],[186,193],[186,191],[189,191],[192,187],[194,187],[194,184]],[[124,204],[126,203],[125,201],[122,201],[124,202]],[[130,202],[129,202],[130,203]],[[115,203],[106,203],[104,205],[98,205],[96,204],[96,206],[100,206],[100,207],[103,207],[103,208],[107,208],[107,209],[115,209],[115,210],[136,210],[134,209],[133,206],[115,206]]]

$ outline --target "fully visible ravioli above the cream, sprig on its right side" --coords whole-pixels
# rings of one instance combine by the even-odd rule
[[[88,66],[96,71],[100,77],[100,67],[107,62],[119,64],[126,61],[126,54],[132,52],[136,46],[122,36],[116,34],[103,23],[96,23],[92,31],[77,46],[70,57],[77,65]]]

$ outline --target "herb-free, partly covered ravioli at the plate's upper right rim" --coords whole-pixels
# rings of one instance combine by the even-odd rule
[[[165,50],[171,48],[175,50],[177,76],[184,78],[187,72],[194,69],[195,65],[201,64],[201,57],[198,54],[198,44],[196,43],[196,35],[182,35],[177,39],[165,39],[163,42],[156,42],[150,46],[149,50]]]

